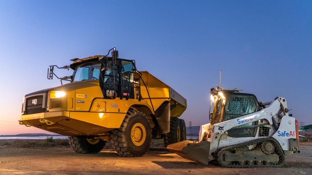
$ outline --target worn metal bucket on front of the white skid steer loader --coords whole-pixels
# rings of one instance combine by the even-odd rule
[[[209,141],[198,142],[184,140],[182,142],[170,144],[166,149],[188,160],[208,165],[210,150]]]

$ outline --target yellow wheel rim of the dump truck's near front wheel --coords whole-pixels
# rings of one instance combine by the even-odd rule
[[[141,123],[136,123],[131,129],[131,140],[136,146],[144,143],[146,138],[146,131]]]

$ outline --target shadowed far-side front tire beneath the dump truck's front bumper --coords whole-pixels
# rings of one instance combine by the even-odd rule
[[[77,153],[95,154],[100,152],[105,146],[106,141],[88,139],[85,136],[69,136],[69,144]]]

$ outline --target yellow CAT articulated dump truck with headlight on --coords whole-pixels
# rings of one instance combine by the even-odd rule
[[[139,157],[151,139],[163,138],[165,147],[186,140],[185,122],[178,118],[186,100],[150,73],[139,72],[134,60],[119,59],[113,48],[105,56],[71,61],[48,67],[48,79],[54,75],[61,86],[24,97],[21,125],[67,135],[82,154],[98,153],[110,140],[120,156]],[[59,78],[54,68],[74,72]]]

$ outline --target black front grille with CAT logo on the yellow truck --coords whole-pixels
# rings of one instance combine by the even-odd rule
[[[43,96],[34,96],[26,99],[27,114],[36,114],[45,111],[45,106],[42,106]]]

